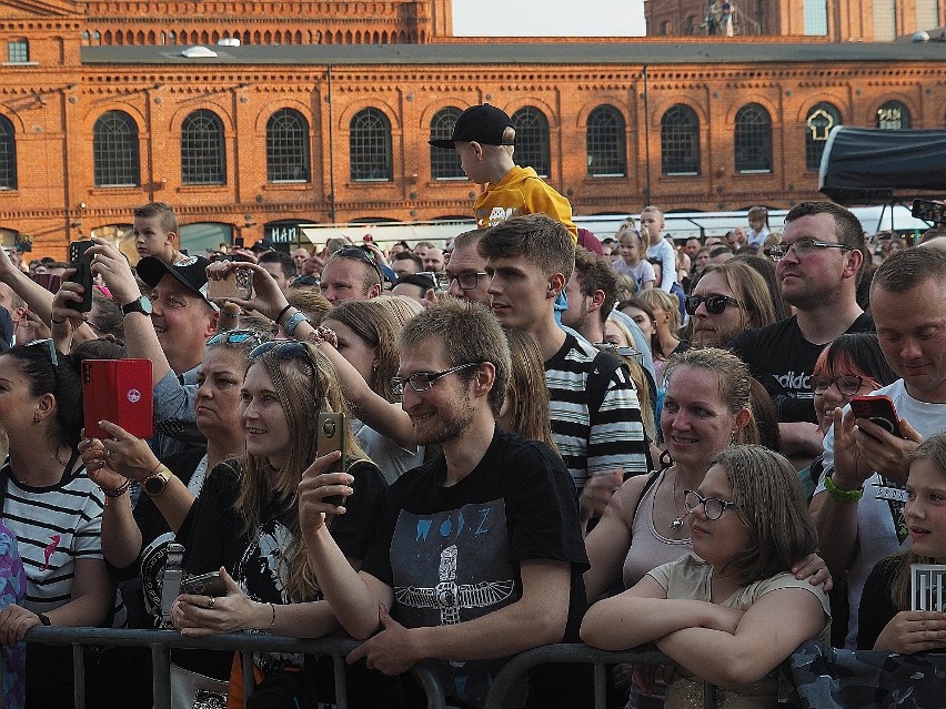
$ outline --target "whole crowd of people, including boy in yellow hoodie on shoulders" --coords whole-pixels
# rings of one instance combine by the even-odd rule
[[[648,206],[600,241],[514,142],[487,104],[432,142],[486,184],[445,244],[188,256],[152,203],[134,266],[92,240],[89,312],[69,264],[52,293],[0,251],[8,707],[72,706],[71,649],[23,646],[40,625],[348,636],[355,707],[423,706],[417,664],[481,707],[509,657],[562,641],[653,644],[668,665],[613,672],[612,706],[640,708],[704,682],[774,707],[807,640],[946,647],[910,592],[912,565],[946,563],[943,233],[875,265],[851,212],[806,202],[781,234],[757,207],[675,244]],[[83,362],[121,358],[151,361],[149,439],[83,431]],[[215,590],[181,591],[177,566]],[[232,654],[171,659],[175,709],[243,706]],[[335,701],[326,658],[253,665],[248,709]],[[88,706],[152,706],[148,649],[85,666]],[[506,706],[591,687],[539,667]]]

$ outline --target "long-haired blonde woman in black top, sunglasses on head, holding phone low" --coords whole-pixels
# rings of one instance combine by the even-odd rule
[[[250,352],[240,388],[243,455],[219,466],[178,534],[187,538],[184,569],[219,571],[227,594],[181,595],[171,618],[182,634],[205,636],[239,630],[314,638],[336,622],[306,561],[299,527],[298,487],[315,463],[314,424],[322,412],[345,412],[331,362],[309,343],[269,342]],[[344,428],[342,463],[354,494],[331,533],[354,568],[364,558],[386,487],[381,472]],[[315,465],[321,465],[320,460]],[[256,680],[302,667],[296,655],[256,654]],[[331,662],[316,679],[331,687]],[[318,682],[316,682],[318,683]],[[349,683],[355,691],[352,683]],[[239,661],[230,680],[229,707],[242,705]],[[331,701],[320,697],[320,701]],[[308,706],[308,705],[306,705]],[[380,705],[379,705],[380,706]]]

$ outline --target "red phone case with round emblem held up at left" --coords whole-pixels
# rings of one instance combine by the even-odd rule
[[[151,359],[85,359],[82,409],[88,438],[111,438],[99,428],[110,421],[138,438],[154,434]]]

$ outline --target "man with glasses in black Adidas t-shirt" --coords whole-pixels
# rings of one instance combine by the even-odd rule
[[[856,298],[863,235],[858,219],[833,202],[794,206],[771,256],[782,296],[795,315],[745,332],[729,344],[772,396],[783,453],[821,453],[812,392],[815,362],[838,335],[874,330],[874,320]]]

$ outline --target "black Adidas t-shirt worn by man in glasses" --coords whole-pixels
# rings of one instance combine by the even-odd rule
[[[874,318],[862,313],[848,333],[874,332]],[[827,343],[826,343],[827,344]],[[745,362],[775,405],[779,422],[807,421],[815,417],[812,371],[826,344],[805,340],[795,315],[765,327],[748,330],[729,341],[727,347]]]

